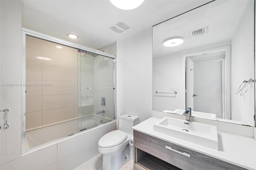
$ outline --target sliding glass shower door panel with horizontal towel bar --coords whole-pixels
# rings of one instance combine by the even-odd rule
[[[88,51],[80,57],[80,130],[96,127],[115,119],[114,59]]]

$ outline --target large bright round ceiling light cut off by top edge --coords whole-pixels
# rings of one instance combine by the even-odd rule
[[[110,0],[110,2],[122,10],[132,10],[140,6],[144,0]]]

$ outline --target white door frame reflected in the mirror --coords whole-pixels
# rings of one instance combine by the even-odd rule
[[[190,53],[182,54],[182,89],[184,89],[185,98],[184,102],[186,103],[186,57],[194,55],[202,55],[205,53],[215,53],[219,51],[225,51],[225,81],[224,81],[224,107],[222,113],[222,119],[230,119],[230,45],[216,47],[211,49],[205,49],[201,51],[195,51]]]

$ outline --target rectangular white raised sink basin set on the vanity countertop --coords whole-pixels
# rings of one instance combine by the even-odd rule
[[[154,131],[218,150],[216,126],[164,117],[154,124]]]

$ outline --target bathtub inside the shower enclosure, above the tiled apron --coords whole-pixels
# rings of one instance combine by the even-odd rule
[[[59,140],[59,138],[70,136],[82,130],[98,127],[110,121],[112,120],[90,115],[80,119],[30,130],[26,132],[26,150],[47,142]]]

